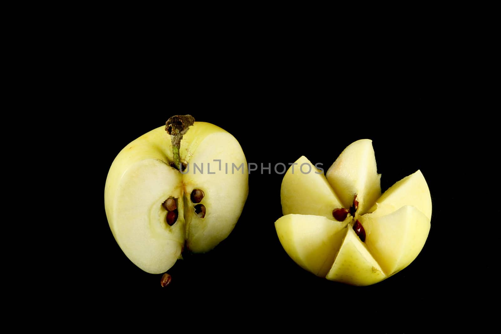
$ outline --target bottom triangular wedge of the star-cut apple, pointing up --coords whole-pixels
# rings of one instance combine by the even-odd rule
[[[386,275],[367,246],[348,226],[346,237],[326,278],[352,285],[371,285],[383,280]]]

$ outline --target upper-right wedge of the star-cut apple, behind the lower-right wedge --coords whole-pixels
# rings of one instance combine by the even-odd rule
[[[431,196],[428,184],[420,170],[392,185],[369,209],[372,217],[380,217],[412,205],[431,220]]]

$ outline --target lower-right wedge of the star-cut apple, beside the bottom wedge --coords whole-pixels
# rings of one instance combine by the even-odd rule
[[[430,231],[429,219],[409,205],[385,216],[366,214],[360,223],[366,233],[365,244],[387,274],[414,261]]]

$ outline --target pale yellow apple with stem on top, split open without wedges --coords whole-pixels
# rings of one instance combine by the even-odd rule
[[[125,255],[150,273],[168,270],[186,244],[206,252],[224,240],[235,226],[248,194],[245,155],[225,130],[195,122],[183,136],[180,159],[189,169],[182,174],[173,161],[165,127],[154,129],[128,144],[113,161],[105,185],[105,210],[110,229]],[[219,162],[221,160],[221,170]],[[193,168],[202,166],[203,173]],[[228,164],[226,173],[225,163]],[[210,170],[208,170],[210,164]],[[231,165],[243,169],[232,173]],[[236,167],[235,167],[236,168]],[[205,217],[195,213],[193,189],[202,189]],[[162,202],[177,198],[178,218],[169,226]]]

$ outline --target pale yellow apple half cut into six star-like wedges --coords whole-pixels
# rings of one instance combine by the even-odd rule
[[[431,220],[430,191],[419,170],[381,195],[368,139],[349,145],[325,176],[304,156],[296,163],[282,181],[284,216],[275,228],[297,264],[329,280],[370,285],[417,257]],[[311,169],[298,168],[304,164]]]

